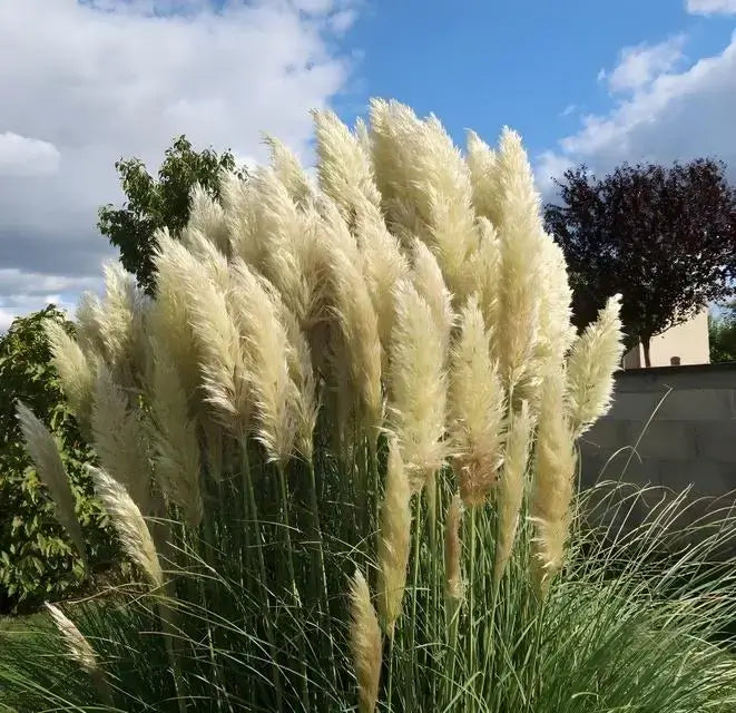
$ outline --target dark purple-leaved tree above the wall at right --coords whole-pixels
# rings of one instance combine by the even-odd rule
[[[579,328],[620,293],[629,345],[640,341],[649,365],[652,336],[734,293],[736,191],[723,163],[624,165],[600,179],[581,166],[557,185],[544,218],[565,251]]]

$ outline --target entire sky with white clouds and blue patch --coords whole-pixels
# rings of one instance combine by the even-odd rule
[[[517,129],[539,189],[586,163],[726,162],[736,182],[736,0],[0,0],[0,331],[101,286],[114,164],[180,134],[313,159],[311,108],[371,97],[462,146]]]

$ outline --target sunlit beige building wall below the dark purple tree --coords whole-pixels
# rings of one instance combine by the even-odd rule
[[[710,363],[708,310],[703,310],[691,320],[654,336],[649,346],[649,356],[652,367],[671,367],[677,363]],[[644,367],[644,348],[641,344],[639,344],[638,350],[632,349],[624,358],[625,369],[637,369],[640,367]]]

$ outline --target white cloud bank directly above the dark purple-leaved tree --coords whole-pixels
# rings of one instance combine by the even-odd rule
[[[621,162],[669,163],[700,156],[720,158],[736,180],[736,33],[714,57],[678,72],[659,70],[608,114],[582,118],[580,129],[540,156],[543,191],[560,167],[586,163],[605,172]]]

